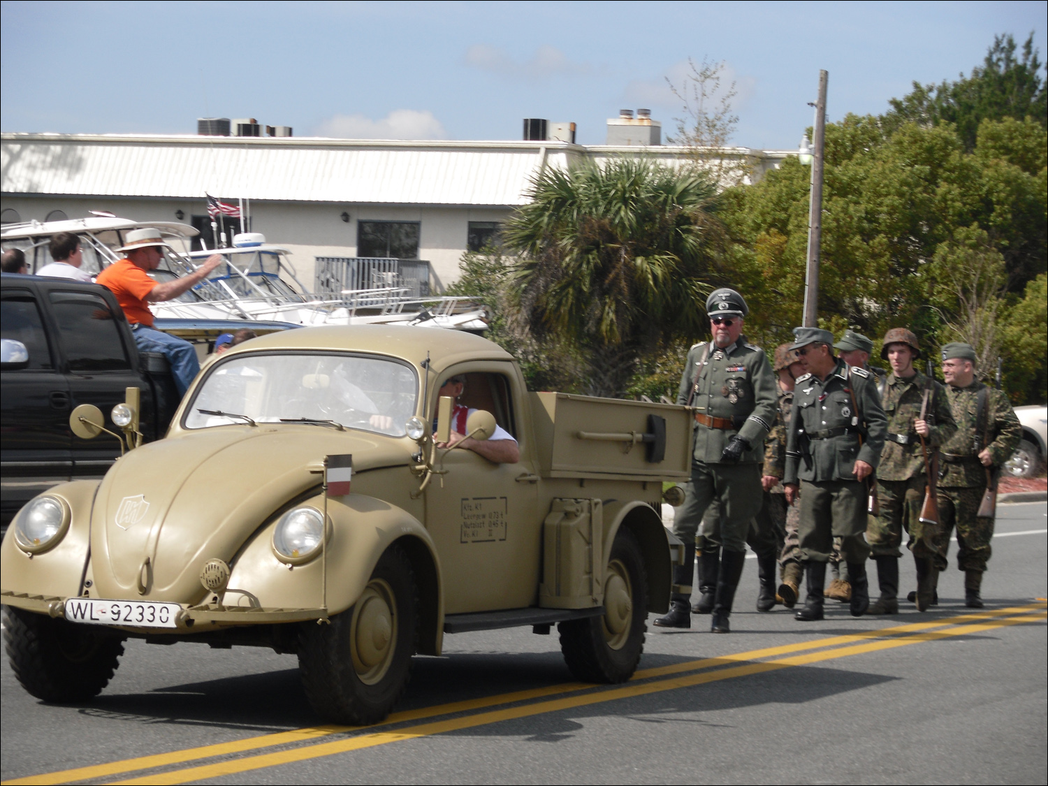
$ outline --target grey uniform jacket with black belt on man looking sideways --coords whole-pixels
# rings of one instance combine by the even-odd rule
[[[885,413],[870,372],[838,359],[825,380],[798,377],[783,483],[855,480],[855,462],[876,470],[883,443]]]

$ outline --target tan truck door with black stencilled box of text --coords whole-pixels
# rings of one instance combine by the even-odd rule
[[[542,517],[533,449],[524,429],[528,421],[521,410],[524,391],[509,364],[485,364],[484,370],[471,366],[443,374],[438,385],[464,374],[459,403],[495,415],[517,438],[521,458],[496,464],[470,450],[449,451],[443,456],[447,474],[434,478],[425,490],[425,524],[440,555],[449,614],[538,603]],[[498,366],[505,368],[493,368]]]

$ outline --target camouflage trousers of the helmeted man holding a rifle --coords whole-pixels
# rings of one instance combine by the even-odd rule
[[[920,520],[927,480],[918,475],[909,480],[877,478],[877,500],[880,516],[870,518],[866,539],[874,556],[902,556],[902,532],[910,536],[907,547],[918,559],[936,558],[939,553],[939,527]],[[936,559],[936,567],[939,560]]]

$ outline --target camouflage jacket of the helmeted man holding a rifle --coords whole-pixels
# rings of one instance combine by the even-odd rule
[[[888,377],[883,395],[888,439],[877,467],[880,480],[909,480],[924,472],[923,452],[920,437],[914,431],[914,421],[920,418],[921,400],[927,381],[927,377],[919,371],[909,379],[900,379],[895,374]],[[957,431],[946,389],[934,379],[925,417],[932,428],[932,433],[924,439],[931,459],[931,452],[944,444]]]

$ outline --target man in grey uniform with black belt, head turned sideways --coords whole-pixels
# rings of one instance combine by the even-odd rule
[[[877,467],[887,420],[869,372],[833,355],[833,333],[794,328],[793,348],[808,371],[796,380],[793,416],[786,436],[786,500],[801,490],[798,528],[808,596],[795,617],[823,618],[823,586],[833,537],[851,578],[852,616],[870,605],[866,560],[867,478]]]

